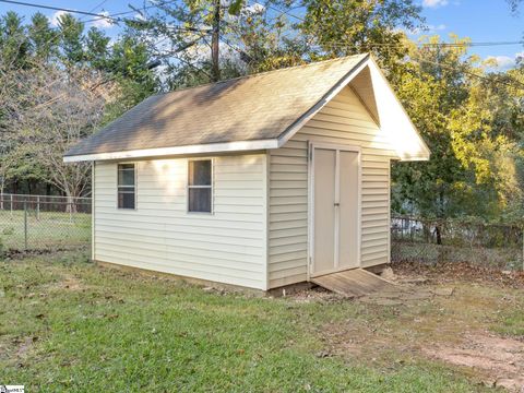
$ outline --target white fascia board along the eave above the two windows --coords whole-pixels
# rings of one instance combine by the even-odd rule
[[[165,157],[175,155],[203,154],[203,153],[233,153],[245,151],[259,151],[267,148],[277,148],[278,140],[260,141],[237,141],[226,143],[209,143],[189,146],[143,148],[127,152],[95,153],[84,155],[64,156],[64,163],[111,160],[111,159],[131,159],[146,157]]]

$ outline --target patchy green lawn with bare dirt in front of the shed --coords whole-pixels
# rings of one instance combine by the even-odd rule
[[[453,296],[380,306],[322,291],[272,299],[204,290],[104,270],[72,252],[0,262],[0,384],[29,392],[487,391],[489,369],[440,354],[478,335],[519,343],[524,290],[450,285]]]

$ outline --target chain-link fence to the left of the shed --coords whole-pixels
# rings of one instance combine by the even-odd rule
[[[91,198],[0,194],[3,251],[60,250],[91,242]]]

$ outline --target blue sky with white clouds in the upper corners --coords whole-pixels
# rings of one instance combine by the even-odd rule
[[[128,4],[138,8],[148,0],[21,0],[37,4],[48,4],[59,8],[92,11],[96,13],[106,12],[109,14],[131,11]],[[254,0],[250,0],[252,3]],[[429,28],[425,34],[442,36],[449,40],[449,34],[455,33],[460,37],[469,37],[474,43],[486,41],[522,41],[524,39],[524,2],[520,14],[513,15],[505,0],[416,0],[422,7],[422,16]],[[37,12],[36,8],[8,4],[0,2],[0,14],[8,10],[31,17]],[[56,23],[60,11],[40,10],[51,23]],[[297,10],[297,13],[300,11]],[[132,14],[130,14],[132,15]],[[91,16],[79,15],[84,21]],[[93,23],[92,23],[93,24]],[[119,33],[119,26],[111,25],[106,21],[95,22],[97,27],[106,31],[109,36]],[[420,33],[412,34],[416,39]],[[483,59],[495,58],[501,69],[509,69],[514,66],[515,57],[524,52],[524,46],[504,45],[486,46],[472,48],[472,53],[479,55]]]

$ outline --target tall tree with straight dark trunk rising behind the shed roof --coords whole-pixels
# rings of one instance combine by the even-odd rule
[[[143,12],[129,26],[162,60],[165,87],[172,90],[302,63],[306,50],[296,45],[291,36],[298,31],[284,14],[289,8],[281,0],[178,1]]]

